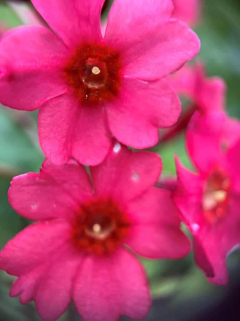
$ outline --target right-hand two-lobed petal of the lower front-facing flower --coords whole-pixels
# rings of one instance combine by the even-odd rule
[[[179,229],[180,220],[169,191],[150,187],[128,203],[128,211],[136,223],[126,244],[139,255],[176,259],[188,254],[190,243]]]

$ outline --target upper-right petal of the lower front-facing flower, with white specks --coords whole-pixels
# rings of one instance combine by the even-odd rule
[[[90,170],[96,195],[112,195],[126,202],[155,184],[161,169],[162,162],[157,154],[132,152],[116,143],[107,158]]]

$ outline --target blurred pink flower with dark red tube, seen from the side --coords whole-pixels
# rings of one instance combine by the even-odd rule
[[[177,124],[162,134],[161,142],[172,138],[185,129],[196,110],[203,114],[224,111],[225,82],[217,76],[206,77],[202,63],[184,65],[179,71],[165,79],[180,97],[187,98],[190,103],[183,110]]]

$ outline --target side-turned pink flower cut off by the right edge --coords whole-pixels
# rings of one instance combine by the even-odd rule
[[[193,234],[197,265],[210,282],[228,282],[226,256],[240,244],[240,124],[224,113],[196,114],[186,143],[197,173],[176,158],[172,198]]]

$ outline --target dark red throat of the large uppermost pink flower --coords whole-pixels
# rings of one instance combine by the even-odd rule
[[[115,50],[100,44],[84,44],[70,57],[64,73],[81,103],[95,105],[117,95],[120,69],[120,57]]]

